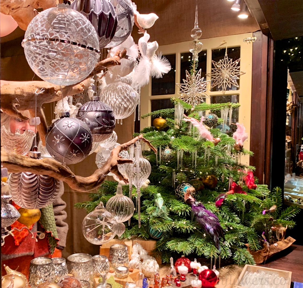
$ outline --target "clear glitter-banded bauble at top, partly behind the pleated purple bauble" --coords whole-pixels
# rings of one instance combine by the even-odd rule
[[[105,47],[115,47],[123,43],[132,33],[134,9],[131,0],[109,0],[114,6],[118,18],[118,27],[112,41]]]

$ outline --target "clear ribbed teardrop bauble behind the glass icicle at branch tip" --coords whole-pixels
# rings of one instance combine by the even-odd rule
[[[138,189],[140,188],[145,180],[148,179],[149,175],[151,174],[151,164],[149,161],[142,156],[142,152],[139,159],[139,186],[137,187],[137,167],[136,167],[136,161],[134,161],[134,164],[130,165],[127,164],[126,168],[126,174],[128,175],[128,178],[130,177],[132,173],[132,179],[133,179],[133,185]],[[132,171],[131,171],[131,168]]]

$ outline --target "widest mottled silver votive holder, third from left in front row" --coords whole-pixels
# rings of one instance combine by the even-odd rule
[[[93,276],[93,260],[89,254],[77,253],[67,257],[68,273],[72,274],[79,280],[94,281]]]

